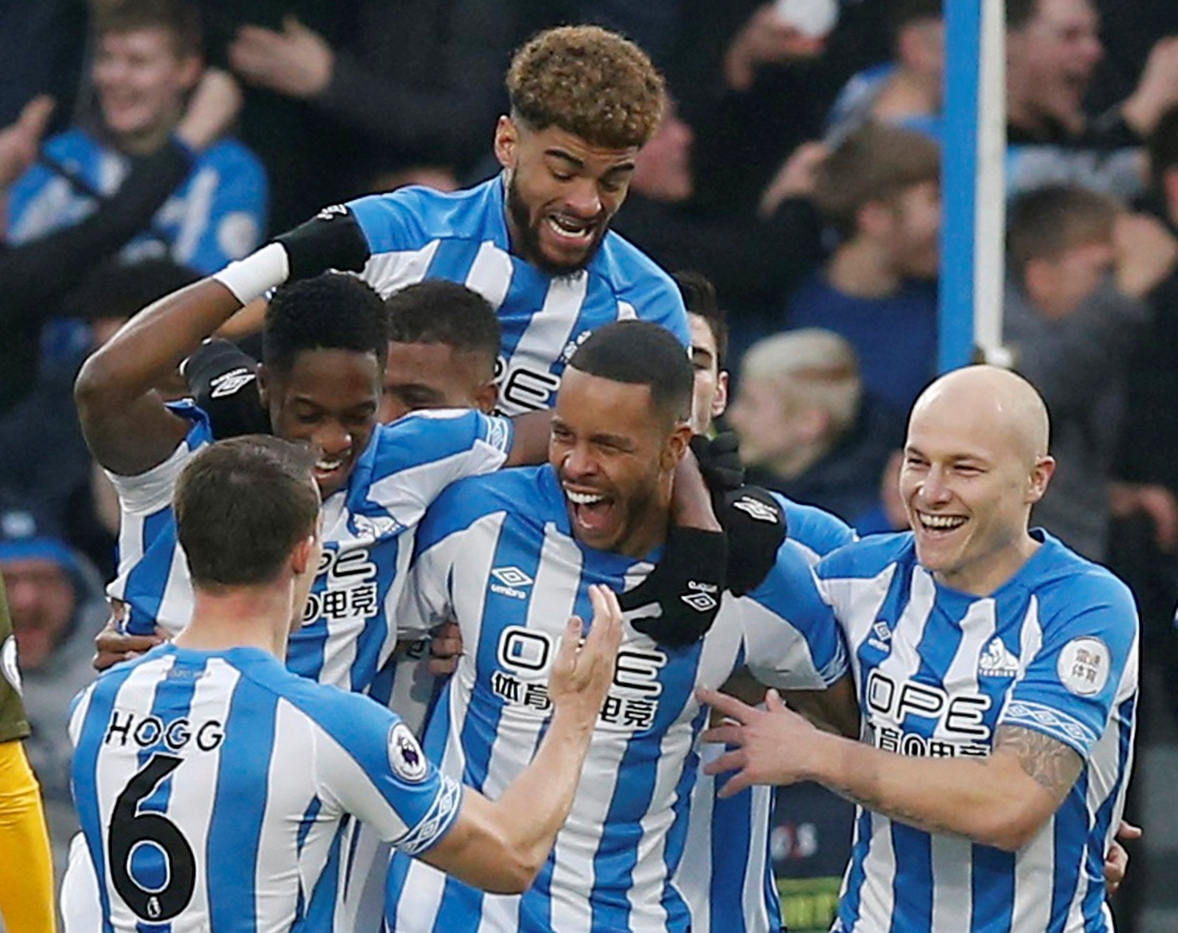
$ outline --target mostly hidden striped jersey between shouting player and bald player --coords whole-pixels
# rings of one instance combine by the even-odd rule
[[[808,565],[855,540],[851,525],[814,505],[773,494],[786,511],[789,538],[782,548],[796,549]],[[770,577],[753,600],[769,602],[789,618],[805,614],[808,588],[774,585]],[[834,673],[834,671],[832,671]],[[827,682],[798,683],[799,689]],[[719,745],[703,746],[700,773],[691,790],[687,848],[675,881],[691,908],[691,933],[768,933],[782,929],[781,899],[769,854],[774,788],[763,785],[730,798],[716,794],[730,775],[703,773],[703,765],[723,754]]]

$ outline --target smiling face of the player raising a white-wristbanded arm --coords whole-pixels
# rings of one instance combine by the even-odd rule
[[[317,451],[315,481],[326,498],[344,488],[376,428],[383,368],[371,353],[304,350],[289,372],[258,370],[274,434]]]

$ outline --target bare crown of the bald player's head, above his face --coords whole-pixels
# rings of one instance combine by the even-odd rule
[[[918,418],[947,417],[991,437],[1006,436],[1028,464],[1047,455],[1047,406],[1031,383],[998,366],[965,366],[941,376],[912,408]]]

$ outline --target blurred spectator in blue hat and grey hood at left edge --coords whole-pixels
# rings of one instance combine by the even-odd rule
[[[41,783],[60,873],[78,831],[70,798],[70,701],[93,680],[94,635],[106,620],[106,598],[94,569],[28,511],[0,515],[0,574],[32,727],[25,748]]]

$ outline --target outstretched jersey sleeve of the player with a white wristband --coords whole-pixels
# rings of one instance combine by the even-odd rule
[[[514,437],[509,419],[470,409],[415,411],[378,430],[368,501],[405,528],[454,481],[499,469]]]

